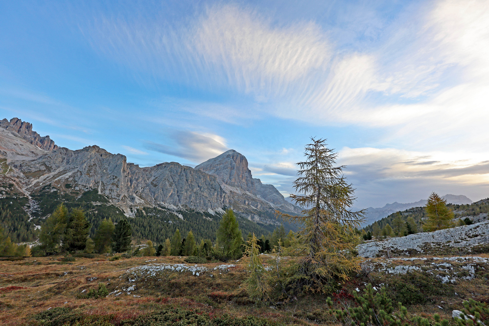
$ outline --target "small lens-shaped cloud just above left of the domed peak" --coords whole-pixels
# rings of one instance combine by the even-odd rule
[[[174,146],[147,141],[146,148],[196,163],[206,161],[228,150],[225,139],[215,134],[178,131],[171,137],[175,142]]]

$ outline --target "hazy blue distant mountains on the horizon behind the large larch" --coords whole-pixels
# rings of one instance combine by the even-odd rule
[[[471,204],[473,202],[472,200],[470,200],[469,198],[463,195],[456,196],[456,195],[447,194],[443,196],[443,198],[446,199],[447,203],[457,204],[457,205]],[[285,200],[289,201],[290,203],[293,203],[290,197],[286,197]],[[366,221],[362,223],[360,228],[372,224],[381,218],[387,217],[392,213],[405,211],[406,209],[410,209],[413,207],[426,206],[426,202],[427,202],[426,199],[421,199],[414,203],[406,203],[406,204],[398,203],[396,201],[393,202],[392,204],[385,204],[384,207],[378,207],[378,208],[369,207],[366,209],[366,214],[365,214]],[[359,208],[355,208],[355,207],[353,209],[358,211],[360,210]]]

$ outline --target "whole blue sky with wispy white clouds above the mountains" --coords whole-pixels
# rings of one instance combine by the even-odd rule
[[[0,1],[0,119],[72,150],[234,149],[288,196],[326,138],[358,208],[489,197],[489,1]]]

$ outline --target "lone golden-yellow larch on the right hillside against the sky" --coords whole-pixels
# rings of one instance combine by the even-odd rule
[[[446,199],[441,198],[434,192],[428,198],[425,211],[428,220],[424,222],[424,231],[432,232],[455,226],[452,222],[454,214],[451,209],[446,207]]]

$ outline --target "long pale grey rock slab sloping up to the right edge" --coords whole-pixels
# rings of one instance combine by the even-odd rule
[[[376,257],[387,249],[398,252],[414,250],[421,253],[426,245],[440,248],[470,248],[483,243],[489,243],[489,221],[434,232],[416,233],[407,237],[370,241],[359,244],[356,249],[360,257]]]

